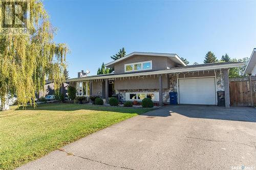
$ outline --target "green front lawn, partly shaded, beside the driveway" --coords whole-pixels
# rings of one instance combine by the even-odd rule
[[[63,145],[151,109],[41,104],[0,112],[0,169],[13,169]]]

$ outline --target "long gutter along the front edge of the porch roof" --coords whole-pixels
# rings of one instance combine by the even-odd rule
[[[183,69],[165,69],[165,70],[157,70],[157,71],[151,71],[151,72],[136,72],[136,73],[132,73],[132,74],[123,74],[123,75],[113,74],[113,75],[100,76],[100,77],[74,78],[74,79],[68,79],[68,80],[66,80],[66,82],[84,81],[84,80],[100,80],[100,79],[110,79],[110,78],[124,78],[124,77],[146,76],[146,75],[172,74],[172,73],[177,73],[177,72],[202,71],[202,70],[241,67],[244,65],[245,65],[245,63],[231,63],[231,64],[225,64],[225,65],[201,66],[201,67],[192,67],[192,68],[183,68]]]

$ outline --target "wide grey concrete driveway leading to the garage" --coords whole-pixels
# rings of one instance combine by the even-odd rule
[[[256,109],[165,106],[18,169],[256,169]]]

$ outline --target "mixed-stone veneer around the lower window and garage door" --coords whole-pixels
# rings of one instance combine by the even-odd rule
[[[170,75],[169,88],[163,89],[163,102],[169,102],[169,92],[177,92],[177,74]],[[216,71],[217,91],[224,91],[224,74],[222,70]],[[117,90],[119,99],[125,101],[125,92],[159,92],[159,89]]]

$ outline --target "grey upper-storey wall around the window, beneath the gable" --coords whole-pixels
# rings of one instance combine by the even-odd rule
[[[168,57],[160,56],[133,56],[122,60],[114,65],[115,74],[124,73],[124,64],[143,62],[143,61],[152,61],[152,70],[166,69],[167,67],[172,68],[175,66],[175,63],[170,60]],[[139,72],[139,71],[134,71]]]

